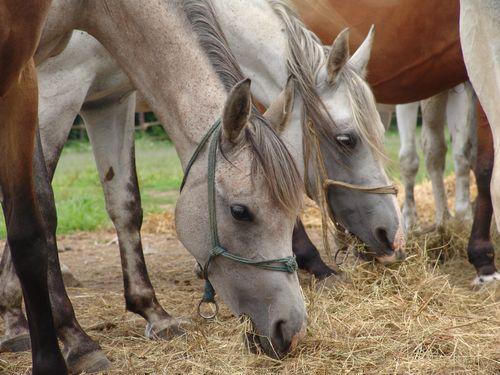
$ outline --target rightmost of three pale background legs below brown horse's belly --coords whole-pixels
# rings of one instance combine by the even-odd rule
[[[449,91],[446,119],[451,133],[455,166],[455,216],[471,219],[470,205],[470,154],[472,151],[471,128],[474,118],[472,92],[468,83]]]

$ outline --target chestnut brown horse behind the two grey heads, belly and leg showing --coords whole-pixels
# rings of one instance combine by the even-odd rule
[[[368,81],[380,103],[422,100],[468,79],[460,47],[458,0],[294,0],[293,3],[324,44],[331,43],[342,29],[350,27],[350,47],[355,50],[370,26],[376,25]],[[496,272],[489,232],[493,211],[489,189],[493,143],[482,108],[477,137],[474,173],[479,196],[467,252],[478,274],[476,281],[482,282],[483,276]],[[305,232],[301,233],[301,237],[304,235]],[[312,246],[305,237],[302,242]]]

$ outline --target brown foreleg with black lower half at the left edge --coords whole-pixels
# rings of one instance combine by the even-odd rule
[[[0,99],[0,186],[12,261],[21,281],[30,327],[33,373],[65,374],[47,288],[47,249],[32,177],[38,118],[31,61]]]

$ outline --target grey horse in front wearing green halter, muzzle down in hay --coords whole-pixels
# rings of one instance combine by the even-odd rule
[[[188,165],[200,139],[209,129],[216,129],[213,124],[221,119],[217,128],[220,133],[211,142],[220,143],[225,156],[212,147],[213,152],[204,149],[196,158],[176,206],[179,239],[202,265],[214,257],[212,249],[219,241],[227,247],[229,253],[216,247],[220,256],[210,263],[207,276],[235,314],[251,317],[265,352],[281,357],[305,333],[305,304],[296,274],[252,267],[223,255],[237,254],[248,258],[247,261],[280,258],[278,265],[288,260],[286,271],[293,271],[292,230],[303,188],[302,175],[292,157],[297,162],[303,159],[300,128],[295,131],[298,136],[288,140],[287,150],[269,120],[251,115],[249,81],[240,81],[235,86],[238,74],[234,67],[221,63],[217,69],[229,74],[233,80],[226,83],[235,86],[227,92],[177,4],[154,0],[56,0],[38,51],[40,61],[59,50],[75,28],[84,29],[100,40],[141,90],[167,127],[183,167]],[[85,80],[74,81],[75,87],[86,84]],[[284,118],[290,96],[290,90],[285,91],[268,113],[279,131],[294,131]],[[123,149],[129,152],[132,147],[127,145],[133,143],[133,129],[124,130],[123,125],[130,123],[133,107],[125,118],[116,119],[108,117],[111,114],[107,103],[100,99],[103,98],[96,98],[87,107],[89,117],[108,120],[101,122],[105,126],[93,129],[95,150],[102,153],[103,162],[116,162],[102,166],[101,171],[105,171],[102,178],[136,183],[133,159],[120,158]],[[129,97],[118,101],[126,108],[133,103]],[[299,143],[295,144],[295,140]],[[112,160],[109,155],[113,155]],[[211,167],[207,168],[209,156]],[[117,175],[115,168],[132,172]],[[209,175],[207,169],[215,176]],[[140,236],[142,212],[133,209],[137,193],[128,188],[111,194],[122,202],[117,211],[112,211],[120,217],[115,224],[131,224],[122,228],[125,236]],[[40,198],[42,206],[45,198]],[[213,221],[215,210],[217,217]],[[48,215],[46,219],[52,220]],[[214,235],[214,228],[218,229],[218,236]],[[54,224],[49,231],[51,302],[68,367],[73,372],[105,368],[109,362],[74,317],[60,278]],[[128,247],[138,240],[140,237],[132,238],[121,247],[127,307],[143,314],[153,336],[178,333],[178,321],[159,306],[149,279],[142,278],[144,273],[140,271],[145,269],[142,250]],[[285,266],[281,268],[284,270]],[[18,337],[19,331],[14,334]]]

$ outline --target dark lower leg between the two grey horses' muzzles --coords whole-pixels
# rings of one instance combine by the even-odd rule
[[[319,280],[335,274],[335,271],[321,259],[318,249],[307,236],[304,224],[300,220],[297,221],[293,228],[292,241],[293,253],[297,257],[297,263],[301,270],[313,274]]]

